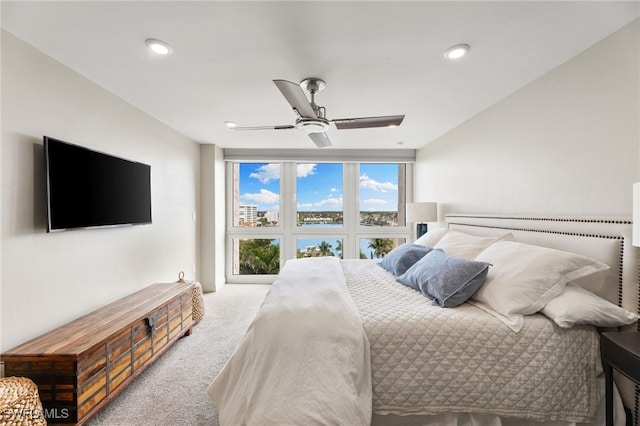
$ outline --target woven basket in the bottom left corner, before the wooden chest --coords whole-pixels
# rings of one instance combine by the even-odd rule
[[[46,426],[38,387],[26,377],[0,379],[0,426]]]

